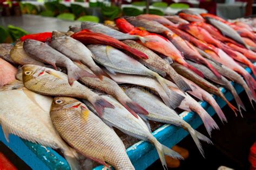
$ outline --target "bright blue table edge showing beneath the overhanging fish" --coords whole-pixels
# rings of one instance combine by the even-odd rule
[[[256,62],[254,65],[256,65]],[[246,68],[246,70],[251,74],[250,68]],[[236,83],[233,83],[233,86],[237,90],[238,94],[244,91],[244,89]],[[233,100],[233,96],[229,92],[226,92],[225,88],[220,89],[225,94],[228,101]],[[214,96],[214,98],[221,108],[226,105],[221,98],[217,96]],[[214,109],[208,103],[200,102],[200,104],[206,109],[208,114],[211,116],[215,114]],[[201,124],[203,124],[199,116],[194,112],[184,111],[180,114],[180,117],[189,123],[194,129],[197,129]],[[152,134],[160,141],[161,144],[172,147],[179,143],[180,140],[185,138],[188,133],[176,126],[165,124],[156,131],[152,132]],[[1,126],[0,140],[32,169],[70,169],[68,162],[66,162],[61,155],[49,147],[31,143],[30,141],[23,140],[12,134],[9,136],[9,142],[6,141]],[[138,143],[127,148],[126,151],[136,169],[145,169],[153,164],[154,161],[159,159],[154,146],[146,141],[139,141]],[[94,169],[106,169],[106,167],[98,166]]]

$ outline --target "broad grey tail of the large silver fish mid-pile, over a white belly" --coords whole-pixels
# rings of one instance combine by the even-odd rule
[[[179,107],[180,103],[183,101],[183,99],[185,97],[181,96],[180,94],[176,93],[175,91],[172,91],[166,84],[166,81],[163,77],[161,76],[157,76],[157,80],[158,82],[161,84],[161,87],[163,87],[165,93],[167,94],[167,96],[169,96],[169,102],[168,102],[168,106],[176,109],[177,107]]]

